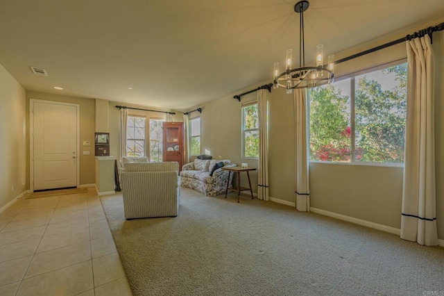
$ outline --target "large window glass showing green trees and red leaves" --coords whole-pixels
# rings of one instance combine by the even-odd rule
[[[407,63],[313,88],[310,160],[402,163]]]

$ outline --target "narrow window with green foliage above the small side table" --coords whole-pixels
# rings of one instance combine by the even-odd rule
[[[242,107],[244,158],[259,157],[259,118],[257,104]]]

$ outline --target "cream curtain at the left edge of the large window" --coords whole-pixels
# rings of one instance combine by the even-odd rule
[[[293,92],[296,142],[296,209],[310,211],[309,163],[307,154],[307,90]]]

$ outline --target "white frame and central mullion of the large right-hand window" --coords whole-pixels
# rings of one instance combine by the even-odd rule
[[[376,163],[376,162],[369,162],[369,161],[355,161],[355,146],[356,146],[356,129],[355,129],[355,101],[356,101],[356,90],[355,90],[355,78],[357,76],[361,76],[363,74],[368,74],[371,72],[376,72],[382,69],[386,69],[388,67],[393,67],[396,65],[402,65],[404,63],[407,63],[407,58],[400,58],[398,60],[393,60],[388,63],[382,63],[379,65],[374,65],[372,67],[367,67],[365,69],[361,69],[355,72],[350,72],[348,74],[341,75],[339,77],[335,77],[336,81],[342,81],[345,79],[350,79],[350,162],[349,163],[341,163],[341,162],[334,162],[334,161],[312,161],[310,159],[310,124],[307,124],[307,156],[308,161],[310,163],[323,163],[323,164],[330,164],[330,165],[361,165],[361,166],[371,166],[371,167],[404,167],[404,162],[402,163]],[[307,121],[310,122],[310,106],[311,106],[311,97],[309,95],[309,92],[307,92]],[[406,98],[407,99],[407,98]],[[405,137],[405,135],[404,135]]]

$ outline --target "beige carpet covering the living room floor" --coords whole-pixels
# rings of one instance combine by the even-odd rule
[[[289,206],[182,188],[178,217],[126,221],[101,197],[134,295],[426,295],[444,249]]]

